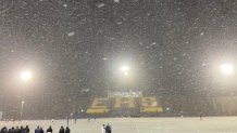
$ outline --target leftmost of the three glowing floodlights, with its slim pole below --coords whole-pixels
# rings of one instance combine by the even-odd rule
[[[25,83],[29,82],[33,78],[33,74],[29,70],[24,70],[20,74],[20,78],[22,79],[22,81],[24,81]],[[22,102],[21,102],[21,114],[20,114],[20,120],[22,121],[22,116],[23,116],[23,111],[24,111],[24,91],[22,89]]]

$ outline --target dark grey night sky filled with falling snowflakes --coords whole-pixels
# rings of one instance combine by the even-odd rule
[[[235,63],[236,32],[235,0],[0,0],[0,90],[28,68],[35,93],[104,92],[128,64],[128,88],[187,101]]]

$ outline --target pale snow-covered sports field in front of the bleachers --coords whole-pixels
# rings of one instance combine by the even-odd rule
[[[101,133],[101,125],[111,123],[113,133],[237,133],[237,117],[207,117],[199,118],[109,118],[97,119],[88,122],[87,119],[70,120],[72,133]],[[34,120],[21,122],[0,122],[0,127],[26,125],[30,133],[37,125],[47,129],[50,120]],[[61,125],[66,125],[66,120],[54,120],[52,128],[59,132]]]

